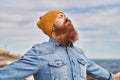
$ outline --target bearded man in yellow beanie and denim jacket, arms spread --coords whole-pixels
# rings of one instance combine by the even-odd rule
[[[0,80],[22,80],[34,75],[35,80],[120,80],[88,59],[73,45],[77,40],[71,21],[62,11],[52,10],[40,17],[37,26],[50,37],[34,45],[21,59],[0,69]]]

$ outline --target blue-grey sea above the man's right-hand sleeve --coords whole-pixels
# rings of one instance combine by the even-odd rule
[[[120,59],[92,59],[96,64],[102,66],[106,70],[117,73],[120,72]]]

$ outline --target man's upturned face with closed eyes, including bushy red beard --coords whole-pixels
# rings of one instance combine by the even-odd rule
[[[64,15],[59,13],[53,25],[53,32],[57,36],[57,41],[63,45],[69,45],[77,40],[77,32],[75,31],[71,21]]]

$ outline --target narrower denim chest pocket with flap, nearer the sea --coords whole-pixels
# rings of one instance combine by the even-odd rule
[[[86,61],[84,59],[77,59],[80,67],[80,76],[86,78]]]

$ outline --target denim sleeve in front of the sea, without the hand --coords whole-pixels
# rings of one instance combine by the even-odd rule
[[[112,80],[112,73],[88,59],[87,74],[98,80]]]

